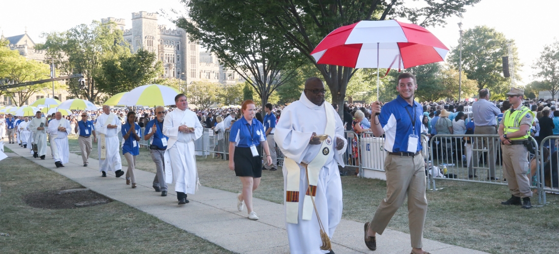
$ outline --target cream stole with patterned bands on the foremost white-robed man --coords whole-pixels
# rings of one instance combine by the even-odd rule
[[[300,183],[301,177],[301,166],[297,164],[292,159],[285,157],[283,163],[285,163],[287,169],[287,186],[286,186],[286,221],[287,223],[298,223],[299,217],[299,185],[304,184],[307,186],[307,191],[305,194],[305,199],[303,200],[303,214],[302,219],[306,221],[310,221],[312,218],[312,210],[313,210],[313,199],[316,196],[316,185],[318,184],[320,169],[328,160],[330,146],[332,142],[335,141],[335,122],[336,119],[334,117],[334,112],[328,110],[331,106],[330,103],[324,102],[324,109],[326,111],[326,128],[324,133],[328,135],[330,141],[322,142],[320,146],[320,150],[316,157],[312,159],[309,164],[305,165],[301,163],[301,166],[307,171],[307,179],[308,183]],[[312,195],[312,199],[311,199]]]

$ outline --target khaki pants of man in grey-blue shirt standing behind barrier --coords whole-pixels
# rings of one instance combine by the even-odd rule
[[[476,126],[476,128],[473,129],[473,134],[495,135],[497,134],[497,130],[495,129],[495,126]],[[497,142],[498,141],[495,140],[494,137],[473,138],[473,142],[472,142],[473,149],[483,149],[484,147],[487,147],[487,149],[489,150],[487,155],[487,157],[489,158],[487,161],[485,161],[485,163],[489,165],[489,175],[487,176],[487,178],[495,177],[495,146],[498,145]],[[472,159],[473,163],[471,163],[470,166],[468,166],[468,175],[476,174],[476,169],[473,169],[473,167],[483,166],[483,165],[479,165],[480,156],[482,155],[483,155],[482,152],[473,151],[473,159]]]

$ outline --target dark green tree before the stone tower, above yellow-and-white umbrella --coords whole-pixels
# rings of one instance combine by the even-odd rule
[[[123,52],[117,57],[104,59],[98,74],[93,77],[98,90],[117,94],[153,83],[163,74],[163,64],[157,60],[155,52],[139,49],[134,54]]]

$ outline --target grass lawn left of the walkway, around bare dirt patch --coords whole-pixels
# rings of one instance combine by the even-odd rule
[[[9,166],[8,166],[9,165]],[[0,161],[0,253],[232,253],[120,202],[40,209],[27,194],[83,188],[22,157]]]

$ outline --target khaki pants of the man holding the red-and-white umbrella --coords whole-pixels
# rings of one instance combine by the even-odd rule
[[[386,198],[375,212],[369,228],[382,234],[398,208],[408,197],[408,218],[412,248],[421,248],[427,214],[425,162],[422,155],[387,155],[385,159]]]

